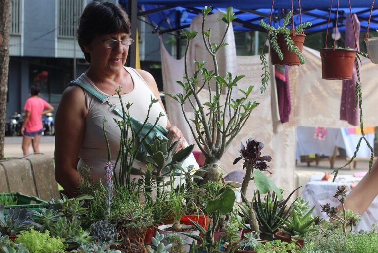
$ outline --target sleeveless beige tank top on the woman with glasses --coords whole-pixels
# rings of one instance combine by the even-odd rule
[[[134,89],[127,94],[121,95],[122,102],[124,105],[128,102],[132,104],[130,107],[130,115],[137,120],[144,122],[147,117],[151,96],[153,98],[156,97],[142,76],[135,69],[125,67],[125,70],[132,77]],[[93,86],[98,92],[107,96],[110,103],[116,104],[117,107],[121,109],[121,103],[117,94],[109,95],[102,92],[95,86],[95,84],[85,73],[83,73],[78,80]],[[87,106],[87,117],[85,119],[84,140],[80,150],[80,159],[77,168],[88,166],[91,172],[90,178],[93,180],[98,180],[104,176],[103,167],[108,159],[105,137],[102,131],[103,119],[105,117],[108,121],[105,125],[105,130],[109,139],[111,161],[114,163],[119,151],[121,132],[120,128],[113,119],[121,120],[121,117],[112,112],[109,105],[102,104],[96,97],[89,94],[87,91],[84,91],[84,93]],[[155,120],[160,113],[163,113],[164,116],[160,117],[158,124],[160,126],[167,126],[167,117],[165,116],[164,110],[160,103],[153,104],[150,110],[148,122],[155,123]],[[117,167],[119,166],[117,165]],[[137,169],[144,169],[146,168],[146,164],[134,161],[133,167]],[[119,168],[116,168],[115,172],[118,175]]]

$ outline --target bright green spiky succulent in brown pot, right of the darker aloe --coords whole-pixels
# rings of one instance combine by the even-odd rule
[[[275,233],[276,238],[289,243],[291,242],[291,239],[294,238],[297,241],[297,244],[303,247],[305,243],[302,237],[306,233],[315,230],[312,226],[316,217],[311,216],[314,209],[315,206],[307,213],[301,215],[293,206],[291,206],[292,218],[284,220],[281,217],[277,217],[277,219],[282,221],[284,225],[279,224],[280,231]]]

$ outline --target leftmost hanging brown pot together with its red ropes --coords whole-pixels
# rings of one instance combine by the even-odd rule
[[[269,16],[269,26],[272,22],[272,12],[273,12],[273,6],[274,6],[274,0],[272,0],[272,7],[270,9],[270,16]],[[300,18],[300,24],[302,26],[302,12],[301,12],[301,1],[298,0],[298,7],[299,7],[299,18]],[[281,50],[282,55],[277,53],[274,49],[275,45],[272,45],[270,43],[270,60],[273,65],[288,65],[288,66],[298,66],[301,63],[304,64],[304,60],[300,59],[298,56],[298,52],[302,56],[302,49],[303,49],[303,43],[305,42],[306,35],[303,31],[300,33],[297,33],[295,31],[294,26],[294,7],[293,7],[293,0],[291,0],[291,19],[292,19],[292,30],[291,32],[286,31],[286,33],[280,33],[276,32],[275,34],[272,34],[277,39],[277,46]],[[282,30],[285,30],[285,24]],[[275,30],[277,31],[277,30]],[[290,39],[293,41],[292,46],[288,46],[287,41]],[[271,40],[270,40],[271,41]],[[295,48],[294,48],[295,46]],[[280,59],[281,58],[281,59]]]

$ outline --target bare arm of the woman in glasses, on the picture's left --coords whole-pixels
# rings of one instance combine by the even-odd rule
[[[76,86],[68,87],[55,115],[55,180],[70,197],[79,194],[80,174],[76,168],[86,114],[83,90]]]

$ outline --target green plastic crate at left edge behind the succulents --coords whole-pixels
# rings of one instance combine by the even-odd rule
[[[40,211],[41,208],[45,207],[47,205],[47,201],[44,201],[40,198],[24,195],[20,192],[9,192],[9,193],[1,193],[5,198],[14,197],[17,198],[17,204],[16,205],[9,205],[5,206],[4,214],[8,213],[8,210],[10,208],[16,208],[19,207],[21,209],[26,208],[28,211]]]

